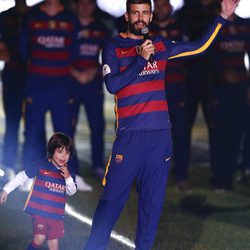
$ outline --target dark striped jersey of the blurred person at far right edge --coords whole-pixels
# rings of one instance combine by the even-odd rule
[[[209,55],[213,84],[250,84],[250,19],[229,20]]]

